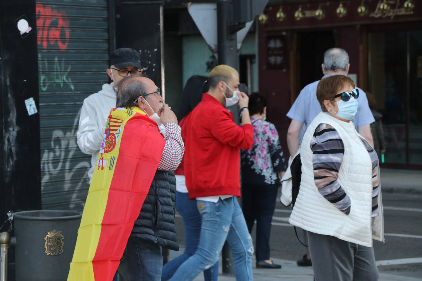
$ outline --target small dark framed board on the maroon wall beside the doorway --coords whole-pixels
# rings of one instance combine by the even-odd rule
[[[267,36],[267,68],[286,68],[286,40],[282,35]]]

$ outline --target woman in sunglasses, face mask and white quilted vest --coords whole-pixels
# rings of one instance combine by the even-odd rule
[[[384,241],[379,165],[351,122],[358,98],[350,78],[322,79],[322,112],[300,148],[302,177],[289,222],[305,230],[316,281],[378,280],[372,239]]]

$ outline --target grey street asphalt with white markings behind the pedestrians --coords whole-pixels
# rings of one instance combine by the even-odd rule
[[[422,281],[422,171],[381,169],[381,189],[384,205],[385,244],[374,241],[373,247],[380,281]],[[252,260],[254,280],[312,281],[312,268],[298,267],[296,260],[305,254],[292,225],[288,223],[291,207],[277,200],[271,230],[271,259],[281,269],[257,269]],[[170,259],[183,252],[184,226],[176,218],[176,231],[181,250],[170,251]],[[301,238],[302,231],[298,229]],[[252,238],[255,240],[254,231]],[[302,240],[303,241],[303,240]],[[203,280],[200,274],[195,281]],[[219,281],[234,281],[234,276],[222,275]]]

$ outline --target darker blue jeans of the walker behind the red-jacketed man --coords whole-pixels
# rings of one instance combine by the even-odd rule
[[[176,192],[176,210],[182,216],[185,226],[185,251],[163,266],[161,281],[170,279],[179,266],[195,254],[199,244],[201,216],[196,206],[196,200],[189,200],[188,193]],[[218,280],[218,261],[211,268],[204,270],[204,280]]]

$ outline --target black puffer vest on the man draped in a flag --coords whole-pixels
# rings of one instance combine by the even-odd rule
[[[138,237],[164,248],[179,251],[174,227],[175,204],[174,172],[157,170],[130,237]]]

